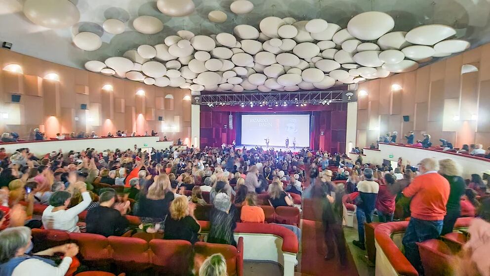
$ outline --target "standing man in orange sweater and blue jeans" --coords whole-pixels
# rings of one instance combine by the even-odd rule
[[[438,238],[441,234],[449,199],[449,182],[437,173],[439,163],[435,158],[422,159],[418,170],[421,175],[403,190],[403,195],[412,200],[411,218],[402,243],[408,261],[420,275],[424,275],[416,242]]]

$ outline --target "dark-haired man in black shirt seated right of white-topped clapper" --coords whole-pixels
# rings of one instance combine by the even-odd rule
[[[129,201],[116,203],[116,191],[107,190],[100,194],[100,205],[88,211],[85,222],[87,233],[103,236],[121,236],[129,223],[123,215],[129,208]],[[117,208],[117,209],[116,209]]]

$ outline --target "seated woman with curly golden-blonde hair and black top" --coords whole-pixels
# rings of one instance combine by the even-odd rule
[[[177,197],[170,204],[170,216],[165,220],[163,239],[182,239],[194,244],[198,241],[201,226],[194,217],[196,205],[184,196]]]

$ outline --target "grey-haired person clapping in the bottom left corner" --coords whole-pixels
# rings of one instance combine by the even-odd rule
[[[74,243],[55,246],[29,255],[31,250],[31,229],[21,226],[1,231],[0,275],[63,276],[70,268],[72,258],[79,252],[78,246]],[[36,256],[52,256],[55,253],[64,255],[58,266],[52,260]]]

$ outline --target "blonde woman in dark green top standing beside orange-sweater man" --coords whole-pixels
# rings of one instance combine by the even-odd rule
[[[456,219],[461,214],[460,200],[463,196],[466,184],[461,177],[461,168],[452,159],[439,161],[439,174],[449,182],[449,199],[446,204],[446,216],[444,216],[443,230],[441,235],[452,232]]]

